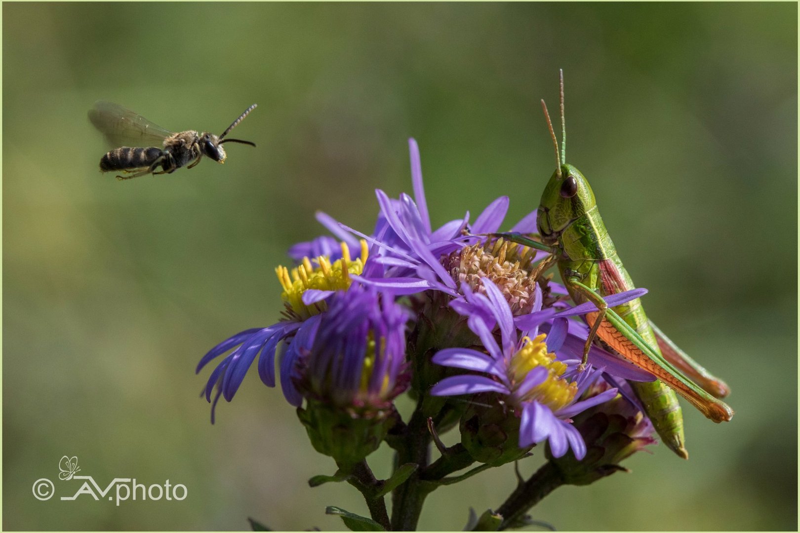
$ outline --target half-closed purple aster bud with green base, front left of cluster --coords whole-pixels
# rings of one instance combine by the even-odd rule
[[[354,285],[337,292],[310,348],[301,350],[293,381],[306,399],[298,417],[314,449],[350,467],[375,451],[408,385],[408,313],[391,296]]]

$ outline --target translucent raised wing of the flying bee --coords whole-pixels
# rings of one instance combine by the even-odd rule
[[[172,133],[142,115],[110,101],[95,102],[94,107],[89,110],[89,120],[115,147],[161,146],[164,137]]]

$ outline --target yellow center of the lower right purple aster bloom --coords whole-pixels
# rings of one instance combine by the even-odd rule
[[[578,392],[578,384],[562,379],[566,364],[556,360],[554,353],[547,353],[544,333],[534,340],[522,339],[522,348],[511,357],[510,378],[514,384],[520,384],[528,372],[539,366],[547,368],[547,378],[526,392],[522,400],[536,400],[553,411],[569,405]]]

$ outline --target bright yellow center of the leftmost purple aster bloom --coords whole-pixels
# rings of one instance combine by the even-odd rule
[[[306,320],[310,316],[318,315],[326,310],[324,301],[306,305],[302,303],[302,295],[309,288],[320,291],[343,291],[350,287],[350,274],[358,275],[364,270],[364,263],[369,257],[369,249],[366,241],[361,241],[361,257],[355,260],[350,258],[350,249],[346,243],[342,242],[342,259],[333,263],[327,256],[319,256],[314,259],[317,263],[315,268],[308,257],[303,257],[302,262],[297,268],[286,268],[278,266],[275,273],[278,274],[278,281],[281,282],[283,300],[290,314],[300,320]]]

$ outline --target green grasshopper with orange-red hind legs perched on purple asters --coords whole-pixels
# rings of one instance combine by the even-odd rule
[[[542,260],[545,263],[540,265],[539,272],[556,264],[575,304],[590,301],[598,308],[596,312],[584,316],[590,332],[584,346],[581,368],[586,365],[591,344],[598,339],[607,348],[613,348],[626,360],[656,376],[655,381],[632,381],[630,384],[662,441],[676,454],[687,459],[689,454],[684,445],[683,418],[675,392],[707,418],[719,423],[730,420],[734,415],[730,407],[717,400],[727,396],[730,390],[722,380],[712,376],[656,328],[647,319],[638,299],[614,308],[609,308],[603,300],[603,296],[630,290],[634,284],[603,225],[589,182],[578,169],[566,163],[563,71],[560,89],[560,153],[550,114],[542,100],[556,157],[555,173],[542,193],[538,210],[537,226],[542,242],[518,233],[494,233],[492,236],[550,252],[550,256]]]

